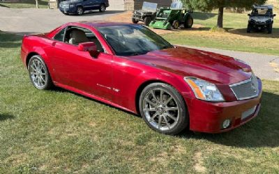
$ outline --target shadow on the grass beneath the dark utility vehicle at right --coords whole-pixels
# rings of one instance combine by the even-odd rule
[[[236,35],[245,35],[251,38],[279,38],[279,28],[273,28],[271,34],[268,34],[266,30],[247,33],[247,29],[228,29],[228,32]]]

